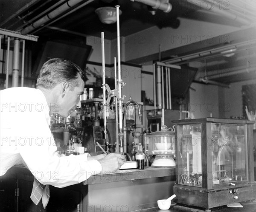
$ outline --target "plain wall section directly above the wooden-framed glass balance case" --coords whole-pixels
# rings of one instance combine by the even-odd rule
[[[231,116],[243,115],[242,86],[256,84],[256,80],[232,83],[230,88],[216,85],[192,83],[194,90],[189,90],[189,109],[196,119],[212,117],[230,119]]]

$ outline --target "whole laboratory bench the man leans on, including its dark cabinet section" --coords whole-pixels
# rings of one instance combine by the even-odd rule
[[[50,186],[46,209],[30,199],[34,176],[23,166],[14,166],[0,176],[0,211],[93,212],[137,211],[157,206],[157,200],[171,196],[175,168],[118,170],[92,175],[80,184],[64,188]]]

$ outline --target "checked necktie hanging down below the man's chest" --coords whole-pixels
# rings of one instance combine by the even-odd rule
[[[33,189],[30,198],[36,205],[38,205],[42,199],[42,204],[45,209],[50,198],[49,185],[43,185],[36,178],[34,178]]]

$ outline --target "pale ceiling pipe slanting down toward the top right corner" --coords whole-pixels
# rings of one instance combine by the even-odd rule
[[[186,0],[189,3],[192,3],[196,6],[200,6],[201,8],[204,8],[208,11],[212,11],[216,14],[221,15],[222,17],[227,17],[230,20],[236,20],[237,22],[243,24],[243,25],[250,25],[251,21],[248,19],[245,19],[243,17],[239,17],[237,14],[234,14],[232,12],[229,12],[228,9],[223,8],[223,6],[218,5],[214,1],[208,1],[208,0]]]

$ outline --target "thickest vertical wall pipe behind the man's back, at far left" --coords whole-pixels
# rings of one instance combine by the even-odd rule
[[[13,68],[12,68],[12,87],[19,86],[19,65],[20,65],[20,40],[14,39],[13,48]]]

